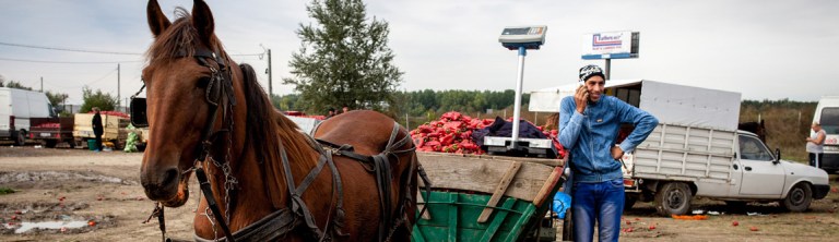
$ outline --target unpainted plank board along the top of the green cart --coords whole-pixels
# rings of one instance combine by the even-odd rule
[[[513,164],[512,160],[453,155],[421,155],[418,158],[430,178],[432,187],[487,194],[495,192],[499,179]],[[532,202],[551,179],[554,167],[533,162],[521,164],[518,174],[504,195]]]

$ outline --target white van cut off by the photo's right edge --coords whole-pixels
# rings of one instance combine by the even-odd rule
[[[825,155],[819,166],[828,173],[839,171],[839,96],[824,96],[813,113],[813,122],[825,130]],[[813,136],[810,130],[810,136]]]

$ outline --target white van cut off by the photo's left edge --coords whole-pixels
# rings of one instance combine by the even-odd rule
[[[34,90],[0,87],[0,140],[23,145],[29,118],[56,117],[47,95]]]

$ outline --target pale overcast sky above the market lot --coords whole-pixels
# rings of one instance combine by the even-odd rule
[[[268,89],[265,58],[272,51],[273,92],[289,76],[288,59],[300,47],[295,34],[309,24],[305,0],[209,0],[216,35],[238,62],[258,70]],[[399,89],[513,89],[518,58],[504,49],[504,26],[547,25],[541,50],[529,51],[524,90],[574,83],[582,60],[582,35],[640,32],[640,57],[612,61],[612,78],[647,78],[724,89],[744,99],[818,100],[839,95],[839,1],[366,1],[368,17],[390,25],[389,46],[403,75]],[[122,53],[143,53],[152,43],[145,1],[27,0],[0,2],[0,43]],[[192,1],[161,0],[175,7]],[[240,55],[240,56],[237,56]],[[29,62],[39,61],[39,62]],[[88,62],[88,63],[43,63]],[[98,62],[98,63],[90,63]],[[102,63],[105,62],[105,63]],[[121,97],[141,86],[139,55],[103,55],[0,44],[0,75],[35,89],[70,95],[82,86]]]

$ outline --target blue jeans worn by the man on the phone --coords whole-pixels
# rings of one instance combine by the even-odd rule
[[[624,213],[624,180],[575,182],[572,193],[574,241],[592,241],[595,219],[600,241],[617,241]]]

